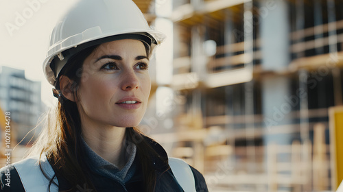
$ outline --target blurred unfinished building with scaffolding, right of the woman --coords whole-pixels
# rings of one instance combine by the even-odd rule
[[[168,86],[180,102],[165,117],[173,131],[152,137],[211,191],[335,191],[329,108],[342,105],[342,8],[173,1]]]

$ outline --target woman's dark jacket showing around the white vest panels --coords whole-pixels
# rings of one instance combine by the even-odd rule
[[[167,153],[159,145],[158,143],[152,141],[149,138],[147,139],[148,143],[155,149],[155,151],[162,157],[167,158]],[[138,163],[139,158],[134,159],[134,163]],[[51,163],[50,163],[51,164]],[[54,169],[54,166],[52,166]],[[139,166],[138,166],[139,167]],[[180,185],[178,184],[176,178],[174,177],[174,174],[172,173],[171,169],[168,169],[169,167],[165,167],[165,164],[160,160],[159,158],[154,159],[154,168],[156,171],[156,191],[163,191],[163,192],[168,192],[168,191],[183,191]],[[167,171],[165,171],[167,168]],[[6,181],[6,169],[8,167],[3,167],[0,169],[0,191],[15,191],[15,192],[21,192],[25,191],[23,188],[23,184],[21,182],[21,179],[19,177],[18,172],[16,171],[14,166],[10,167],[10,187],[6,185],[8,181]],[[206,192],[208,191],[206,187],[206,182],[204,180],[204,177],[202,174],[191,167],[191,171],[193,172],[193,176],[196,182],[196,191],[197,192]],[[7,173],[8,175],[8,173]],[[34,177],[34,176],[32,176]],[[67,180],[64,180],[61,176],[56,175],[58,179],[58,187],[59,191],[64,191],[66,189],[70,189],[71,187],[69,186]],[[134,175],[128,182],[126,183],[121,183],[118,182],[117,180],[113,180],[110,178],[106,178],[104,176],[101,176],[97,173],[93,173],[91,175],[91,180],[93,181],[93,184],[95,185],[95,188],[97,191],[142,191],[143,189],[143,177],[142,177],[142,172],[140,168],[137,168],[136,171],[134,172]],[[78,191],[83,192],[83,191],[89,191],[84,188],[84,186],[78,186]],[[37,191],[40,192],[40,191]],[[187,191],[186,191],[187,192]]]

